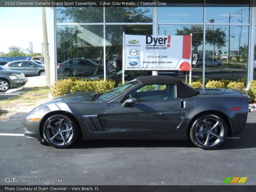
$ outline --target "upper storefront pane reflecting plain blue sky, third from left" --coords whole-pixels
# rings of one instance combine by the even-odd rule
[[[203,23],[204,7],[201,3],[193,4],[168,4],[165,7],[158,7],[158,22],[170,23]]]

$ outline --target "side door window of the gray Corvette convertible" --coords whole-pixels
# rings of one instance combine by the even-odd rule
[[[154,84],[154,85],[144,85],[138,89],[128,93],[123,102],[128,98],[134,98],[137,102],[145,101],[160,101],[175,99],[175,85],[169,84]]]

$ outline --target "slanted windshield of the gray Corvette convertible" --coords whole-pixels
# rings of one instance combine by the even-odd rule
[[[106,93],[100,95],[99,98],[97,99],[97,102],[103,102],[106,100],[113,99],[114,97],[119,95],[121,92],[125,91],[126,89],[129,89],[130,87],[132,87],[134,84],[137,84],[137,83],[138,83],[137,81],[133,80],[133,81],[129,81],[125,84],[122,84],[122,85],[110,90],[109,92],[106,92]]]

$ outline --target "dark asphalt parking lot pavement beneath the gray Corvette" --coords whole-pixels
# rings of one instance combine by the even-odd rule
[[[190,140],[91,140],[56,149],[22,136],[24,116],[0,122],[0,185],[223,185],[226,177],[256,184],[255,113],[243,133],[216,150],[196,148]],[[40,182],[5,183],[7,177]]]

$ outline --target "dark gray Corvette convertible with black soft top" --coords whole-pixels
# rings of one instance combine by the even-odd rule
[[[104,94],[78,92],[30,111],[25,136],[56,148],[83,140],[187,140],[220,146],[243,130],[249,99],[228,89],[194,89],[176,77],[138,77]]]

